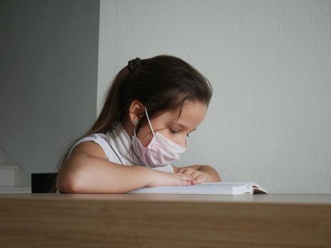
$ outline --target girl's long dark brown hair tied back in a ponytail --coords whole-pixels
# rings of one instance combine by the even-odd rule
[[[125,121],[134,100],[145,105],[152,119],[174,109],[179,109],[180,116],[186,100],[201,101],[208,106],[211,96],[212,86],[208,79],[179,57],[159,55],[146,60],[136,58],[130,60],[113,79],[99,117],[82,137],[106,133],[117,122]],[[142,114],[137,130],[146,121]],[[69,148],[82,137],[70,143]],[[69,148],[61,158],[57,170],[67,158]]]

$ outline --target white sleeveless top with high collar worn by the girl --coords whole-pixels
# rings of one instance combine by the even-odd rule
[[[103,149],[103,152],[105,152],[108,161],[110,162],[123,164],[125,166],[142,165],[150,168],[148,164],[143,164],[137,154],[135,154],[132,149],[132,140],[123,128],[123,125],[120,123],[118,123],[116,128],[113,128],[113,130],[110,132],[94,133],[92,135],[82,137],[82,139],[78,140],[76,143],[74,143],[74,145],[72,145],[66,159],[69,158],[74,147],[80,142],[84,141],[93,141],[100,145],[100,147]],[[171,164],[167,164],[164,167],[156,167],[151,169],[164,171],[167,173],[174,173],[174,168]]]

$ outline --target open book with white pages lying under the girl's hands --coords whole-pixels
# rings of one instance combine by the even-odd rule
[[[128,193],[169,193],[189,195],[252,195],[268,193],[254,181],[244,182],[211,182],[191,186],[157,186],[143,187]]]

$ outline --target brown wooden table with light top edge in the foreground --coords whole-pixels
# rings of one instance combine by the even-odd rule
[[[0,194],[0,247],[331,247],[331,195]]]

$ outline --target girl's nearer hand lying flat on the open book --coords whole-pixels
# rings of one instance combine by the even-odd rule
[[[193,180],[191,176],[180,173],[167,173],[164,171],[152,170],[153,182],[147,187],[156,186],[189,186]]]

